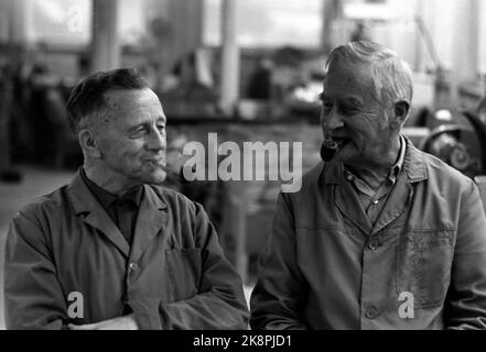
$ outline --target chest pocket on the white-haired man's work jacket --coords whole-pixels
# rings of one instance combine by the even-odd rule
[[[410,231],[397,248],[397,292],[413,295],[415,308],[441,306],[451,280],[452,230]]]

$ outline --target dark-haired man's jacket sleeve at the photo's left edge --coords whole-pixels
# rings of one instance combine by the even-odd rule
[[[8,329],[63,329],[66,301],[46,239],[35,219],[17,215],[4,256],[4,317]]]

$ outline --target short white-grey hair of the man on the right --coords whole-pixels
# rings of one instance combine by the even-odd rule
[[[326,72],[337,62],[368,63],[380,101],[395,103],[413,97],[412,73],[409,65],[388,47],[367,41],[352,42],[335,48],[327,58]]]

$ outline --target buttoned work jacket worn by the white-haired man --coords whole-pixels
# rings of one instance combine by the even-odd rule
[[[407,140],[371,226],[338,160],[280,194],[253,329],[486,328],[486,218],[474,183]]]

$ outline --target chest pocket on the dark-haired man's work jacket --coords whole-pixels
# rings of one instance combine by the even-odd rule
[[[165,250],[165,258],[174,299],[197,295],[202,272],[201,249]]]

